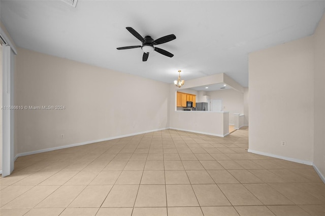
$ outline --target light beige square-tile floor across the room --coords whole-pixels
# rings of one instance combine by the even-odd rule
[[[312,166],[224,138],[163,130],[19,157],[1,215],[325,215]]]

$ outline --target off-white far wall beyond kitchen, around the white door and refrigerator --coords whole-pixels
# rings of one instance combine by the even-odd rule
[[[244,114],[244,93],[234,89],[224,89],[207,91],[207,95],[210,96],[211,100],[222,100],[222,111],[229,112],[229,124],[235,124],[234,113]]]

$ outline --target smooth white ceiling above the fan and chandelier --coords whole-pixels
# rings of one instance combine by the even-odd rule
[[[173,83],[225,73],[248,86],[248,53],[313,34],[325,1],[2,1],[1,21],[18,47]],[[143,37],[176,40],[150,53]],[[19,54],[19,53],[18,53]],[[186,82],[185,82],[186,84]],[[185,86],[184,86],[185,87]]]

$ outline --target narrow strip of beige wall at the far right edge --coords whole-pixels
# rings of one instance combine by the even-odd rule
[[[325,15],[314,33],[314,164],[325,176]]]

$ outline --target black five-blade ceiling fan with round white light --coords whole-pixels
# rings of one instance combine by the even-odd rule
[[[126,29],[134,35],[139,41],[142,42],[142,46],[128,46],[128,47],[118,47],[116,49],[118,50],[126,50],[126,49],[133,49],[133,48],[140,48],[142,49],[143,56],[142,61],[147,61],[149,57],[149,53],[152,51],[156,51],[160,54],[166,55],[168,57],[173,57],[174,55],[170,52],[167,52],[166,50],[160,49],[158,47],[154,47],[154,45],[158,44],[164,44],[170,41],[173,41],[176,39],[176,36],[174,34],[169,34],[164,37],[158,38],[157,40],[153,40],[149,35],[146,35],[146,37],[142,38],[142,36],[132,27],[126,27]]]

